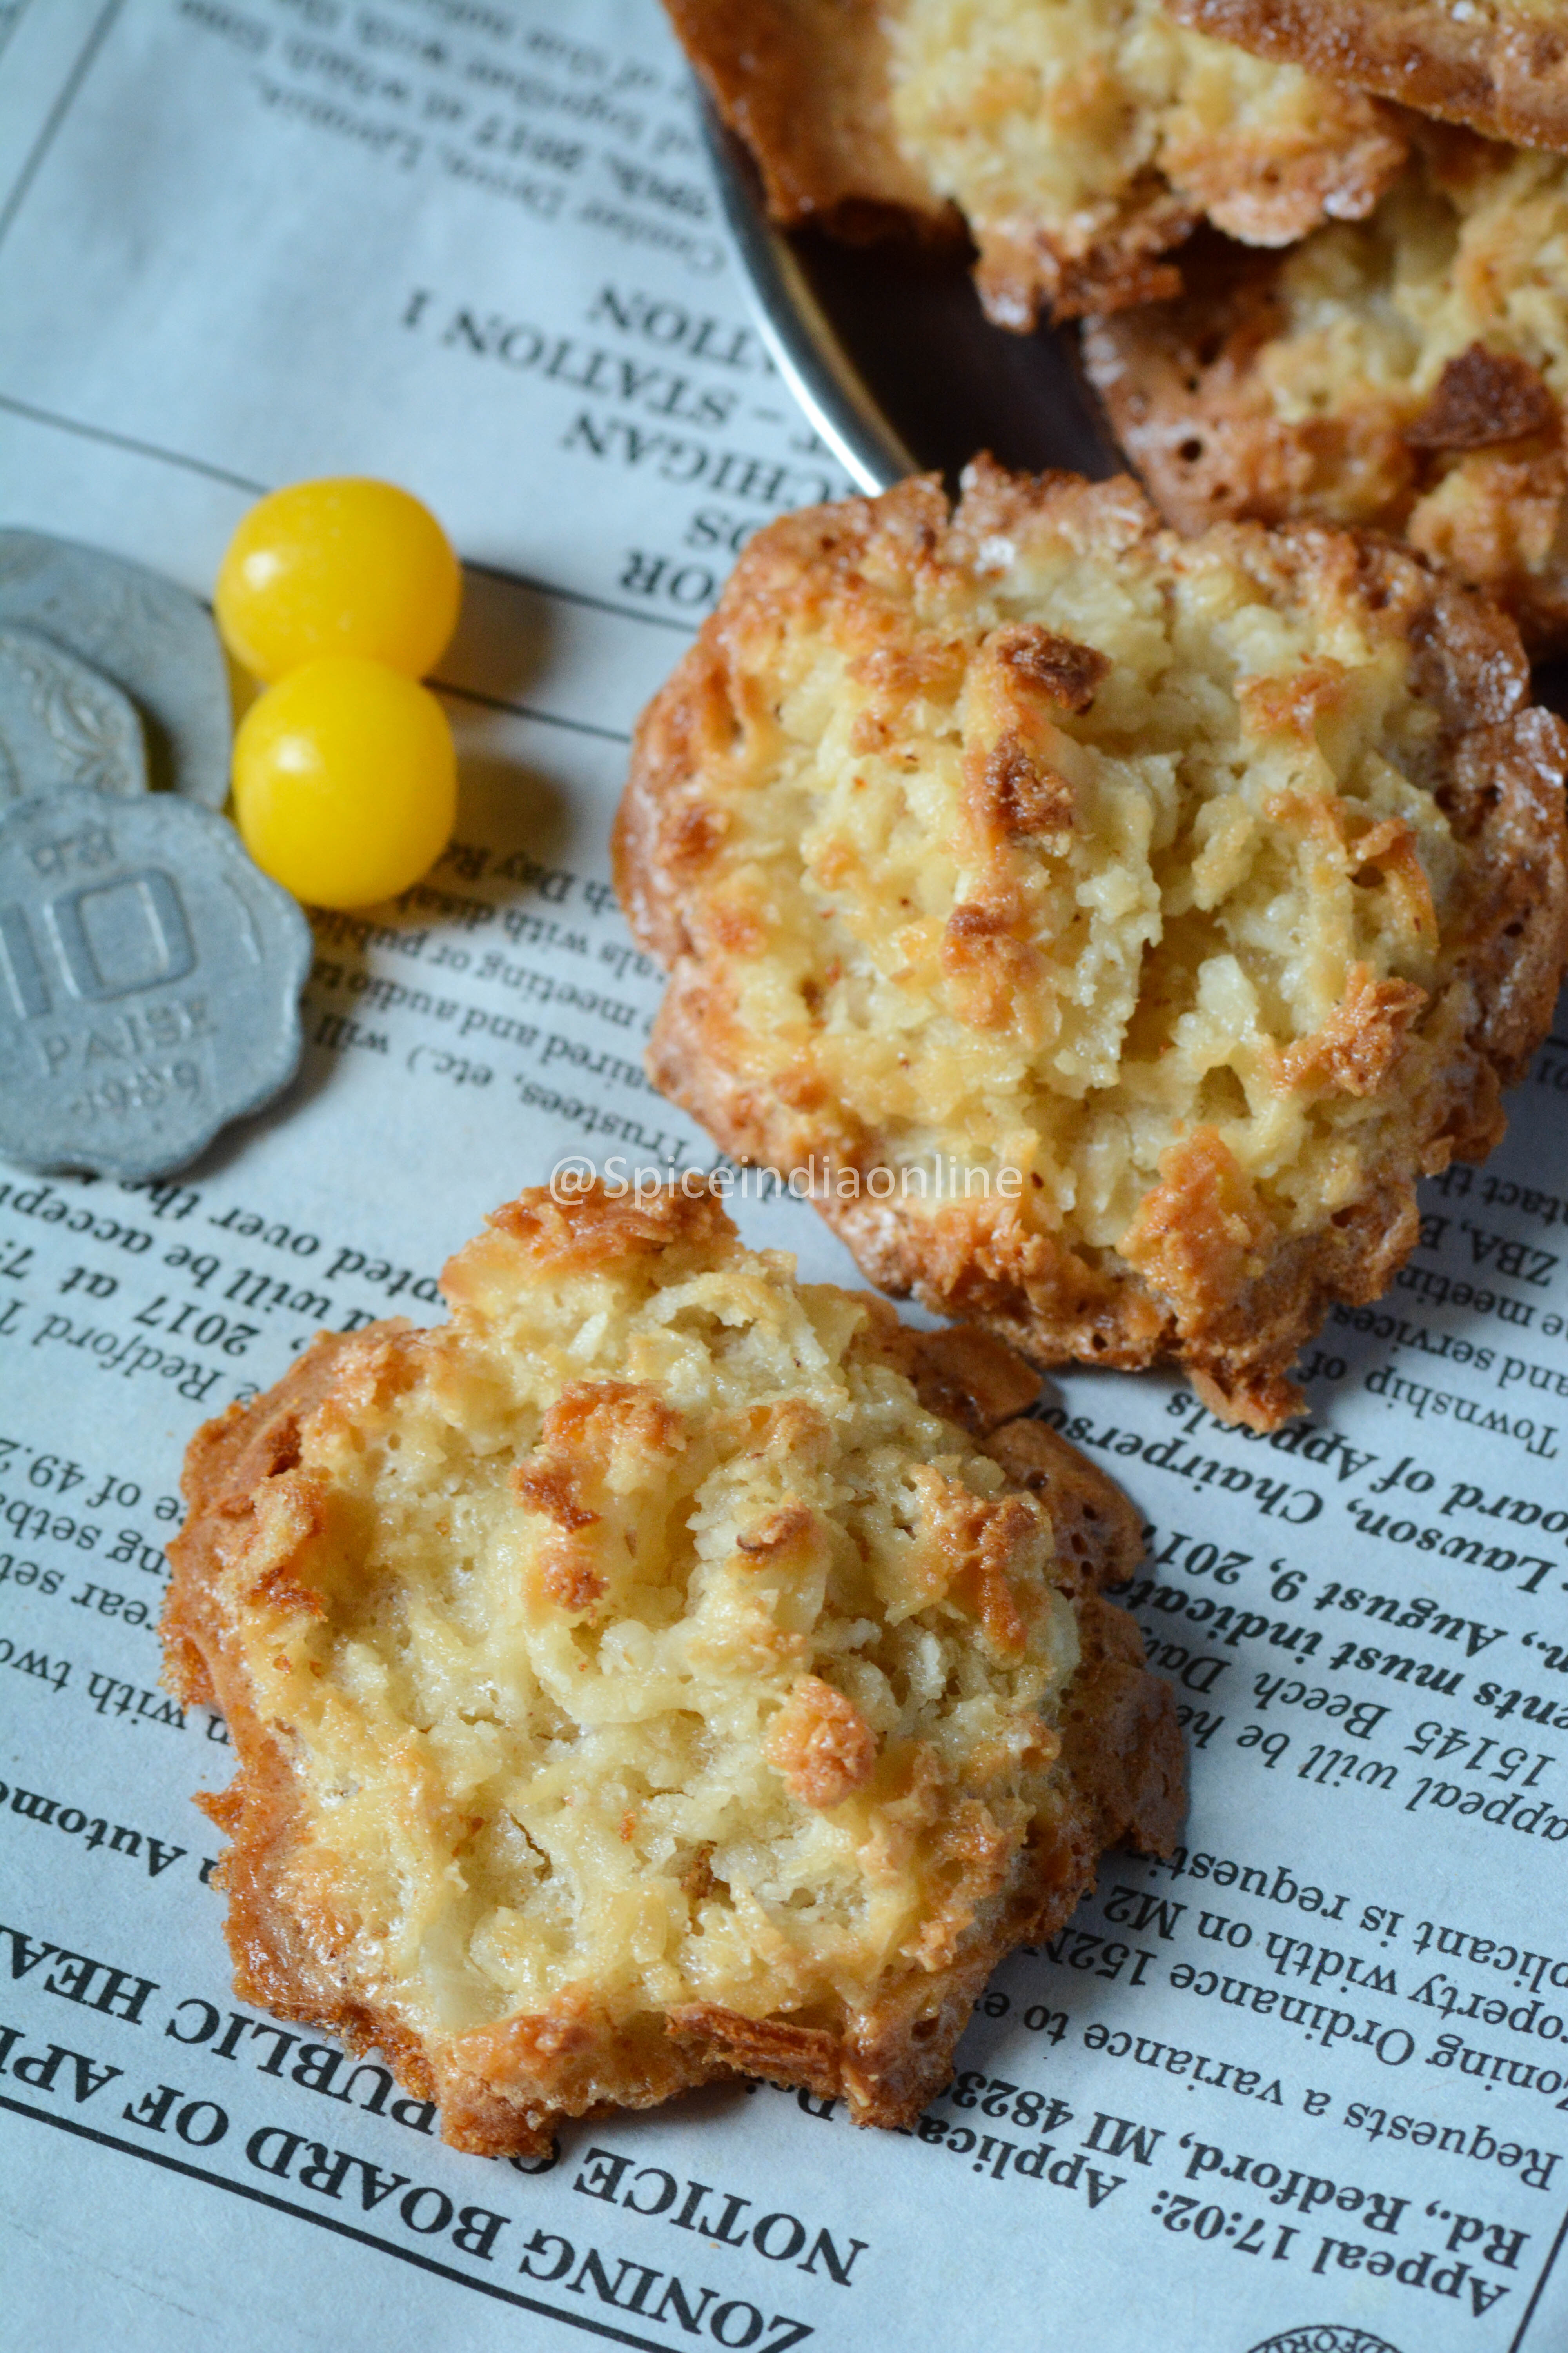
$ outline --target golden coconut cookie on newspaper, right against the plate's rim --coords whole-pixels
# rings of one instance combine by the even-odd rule
[[[759,532],[616,826],[656,1082],[893,1292],[1272,1428],[1568,955],[1514,626],[1338,532],[971,466]]]

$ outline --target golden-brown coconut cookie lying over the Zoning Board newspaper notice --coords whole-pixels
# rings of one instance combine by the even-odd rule
[[[1103,1847],[1168,1852],[1131,1504],[1037,1379],[797,1285],[708,1193],[524,1193],[451,1322],[207,1424],[169,1680],[235,1988],[381,2045],[458,2148],[715,2075],[907,2122]]]

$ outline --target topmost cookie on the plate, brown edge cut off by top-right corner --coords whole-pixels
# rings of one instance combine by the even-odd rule
[[[1519,146],[1568,148],[1568,19],[1554,0],[1166,0],[1255,56],[1378,89]]]

